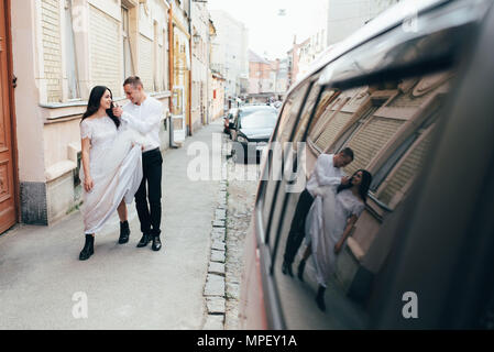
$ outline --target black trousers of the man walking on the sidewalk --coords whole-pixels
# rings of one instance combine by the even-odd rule
[[[135,194],[135,206],[142,233],[160,235],[162,221],[162,165],[160,148],[142,153],[143,177]],[[146,193],[147,184],[147,193]],[[147,199],[150,200],[147,207]]]

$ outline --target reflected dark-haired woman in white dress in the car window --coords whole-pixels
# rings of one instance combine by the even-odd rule
[[[356,170],[347,185],[322,186],[316,189],[316,199],[306,218],[307,249],[298,265],[298,278],[303,280],[307,258],[314,253],[314,266],[319,289],[318,307],[325,311],[325,290],[334,271],[337,254],[347,245],[353,224],[365,208],[372,175]]]

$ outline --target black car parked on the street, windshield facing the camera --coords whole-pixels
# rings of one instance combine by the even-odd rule
[[[231,129],[233,158],[235,162],[243,160],[244,163],[254,157],[256,161],[260,160],[277,120],[277,111],[271,107],[245,112],[245,110],[239,111]]]

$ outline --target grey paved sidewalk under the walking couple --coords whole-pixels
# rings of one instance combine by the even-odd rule
[[[134,204],[130,241],[117,243],[114,215],[84,262],[79,211],[52,227],[21,224],[0,235],[0,329],[201,329],[219,180],[188,179],[187,162],[195,156],[187,156],[187,147],[200,141],[211,153],[220,120],[164,154],[160,252],[151,244],[135,248],[141,233]],[[74,318],[85,297],[87,318]]]

